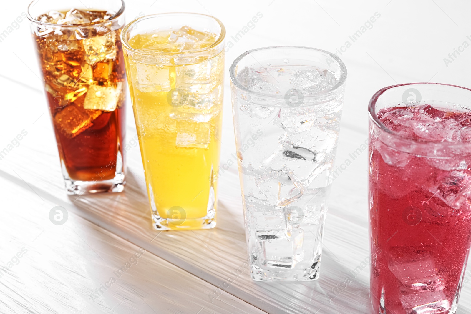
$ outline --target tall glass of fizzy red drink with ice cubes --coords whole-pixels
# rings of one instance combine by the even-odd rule
[[[372,313],[455,313],[471,241],[471,90],[390,86],[370,101]]]

